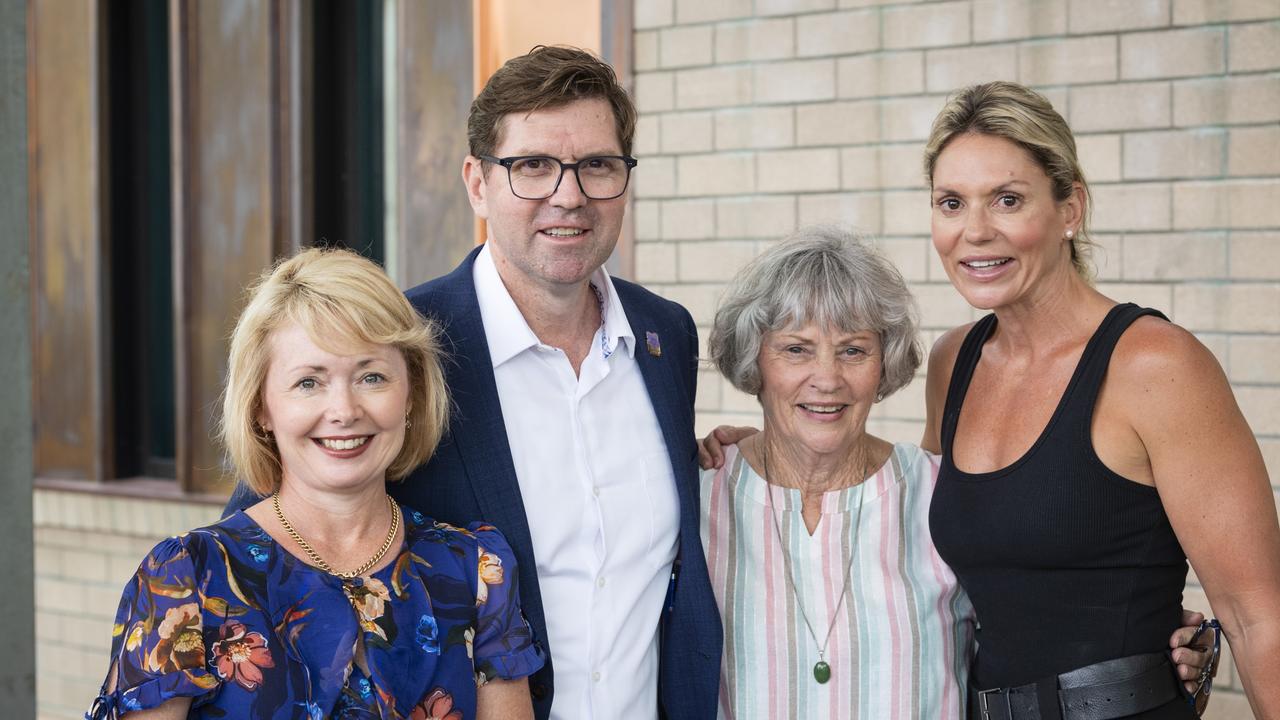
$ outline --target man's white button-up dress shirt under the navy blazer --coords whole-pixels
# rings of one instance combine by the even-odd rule
[[[655,719],[680,501],[613,282],[603,268],[591,277],[602,323],[575,377],[529,328],[489,247],[472,277],[538,560],[550,716]]]

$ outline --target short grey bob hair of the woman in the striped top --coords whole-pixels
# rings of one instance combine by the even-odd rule
[[[902,275],[838,225],[801,227],[742,268],[724,290],[708,352],[733,387],[759,396],[765,333],[809,324],[879,336],[877,401],[911,382],[924,357]]]

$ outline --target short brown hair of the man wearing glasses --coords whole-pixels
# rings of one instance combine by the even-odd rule
[[[467,117],[471,155],[493,155],[499,141],[499,123],[511,113],[532,113],[594,97],[605,100],[613,109],[622,154],[630,155],[636,106],[618,83],[613,68],[581,47],[539,45],[507,60],[471,102]]]

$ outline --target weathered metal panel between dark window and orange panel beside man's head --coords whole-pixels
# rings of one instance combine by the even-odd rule
[[[472,97],[470,3],[394,3],[396,237],[388,265],[401,287],[453,269],[475,246],[462,187]]]

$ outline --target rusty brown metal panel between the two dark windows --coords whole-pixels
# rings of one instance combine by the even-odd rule
[[[289,126],[275,37],[288,5],[170,5],[177,466],[191,492],[233,480],[214,441],[227,338],[244,286],[298,238],[282,184],[296,182],[282,141]]]

